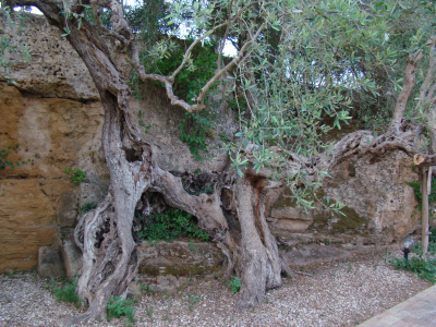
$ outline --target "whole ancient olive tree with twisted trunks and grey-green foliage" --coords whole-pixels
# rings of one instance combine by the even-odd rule
[[[156,1],[144,1],[142,8],[146,10],[152,3]],[[318,198],[316,191],[341,160],[402,150],[419,155],[420,167],[436,165],[435,43],[419,50],[427,38],[424,34],[415,37],[402,89],[396,74],[398,59],[405,51],[391,48],[396,24],[403,15],[432,15],[433,4],[423,4],[429,13],[414,13],[415,8],[409,8],[407,1],[171,1],[167,3],[169,23],[187,22],[194,40],[178,66],[166,75],[147,69],[150,60],[168,56],[169,38],[156,37],[156,43],[141,39],[141,29],[150,27],[136,20],[132,29],[122,2],[15,0],[8,4],[34,5],[62,32],[88,68],[105,108],[102,147],[110,190],[75,229],[84,263],[77,292],[88,310],[71,324],[105,317],[110,295],[125,294],[138,265],[132,221],[146,192],[159,193],[168,205],[197,217],[226,254],[226,274],[241,277],[239,304],[245,307],[257,305],[266,290],[279,287],[281,271],[292,274],[279,256],[265,219],[268,187],[284,183],[299,205],[311,207],[317,201],[339,211],[340,202],[330,204]],[[215,74],[194,99],[183,99],[174,92],[174,81],[182,71],[193,69],[193,49],[210,39],[220,45]],[[225,40],[238,50],[230,60],[222,58]],[[129,107],[131,89],[125,62],[120,64],[117,59],[120,53],[128,59],[128,70],[134,72],[136,81],[160,83],[171,104],[187,112],[205,109],[208,92],[226,82],[239,112],[240,131],[227,144],[229,170],[222,172],[213,194],[187,193],[178,177],[156,164]],[[415,104],[410,94],[417,64],[428,57],[428,78],[422,83]],[[351,119],[356,94],[384,96],[379,94],[380,81],[386,87],[383,92],[401,89],[386,132],[374,136],[373,131],[360,130],[338,142],[325,142],[323,134]],[[404,119],[407,110],[412,112],[410,119]],[[431,146],[419,149],[419,135],[428,136]],[[238,218],[240,234],[230,233],[225,209]]]

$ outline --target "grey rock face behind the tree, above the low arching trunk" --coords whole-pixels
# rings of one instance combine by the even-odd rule
[[[136,112],[141,137],[152,145],[156,162],[164,169],[180,172],[221,171],[227,164],[222,154],[220,136],[232,138],[237,131],[233,112],[226,104],[216,108],[215,128],[210,131],[208,160],[195,160],[189,146],[180,141],[179,122],[183,110],[169,106],[164,89],[150,86],[144,90],[144,100],[130,100],[131,109]],[[208,110],[208,109],[206,109]],[[206,154],[204,154],[206,155]]]

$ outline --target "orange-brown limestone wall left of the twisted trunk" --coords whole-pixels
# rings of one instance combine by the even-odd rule
[[[65,167],[99,175],[99,184],[90,179],[82,187],[105,189],[107,173],[100,102],[23,97],[15,87],[0,83],[0,148],[19,144],[7,159],[32,160],[0,170],[2,271],[36,266],[38,247],[57,244],[60,228],[74,226],[81,186],[65,175]]]

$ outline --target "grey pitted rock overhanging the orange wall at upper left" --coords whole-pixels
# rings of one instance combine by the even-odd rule
[[[0,76],[13,80],[21,90],[37,97],[99,100],[86,65],[44,16],[26,14],[11,31],[0,14],[0,25],[21,40],[20,45],[26,44],[31,53],[27,60],[20,53],[7,52],[4,59],[11,64]]]

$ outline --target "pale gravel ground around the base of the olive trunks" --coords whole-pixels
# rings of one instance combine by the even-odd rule
[[[431,286],[395,270],[387,258],[365,254],[306,266],[313,276],[284,278],[264,304],[243,312],[226,281],[192,278],[173,292],[138,296],[135,326],[355,326]],[[58,326],[74,313],[71,304],[56,301],[48,279],[35,272],[0,276],[0,326]],[[129,325],[121,318],[88,326]]]

